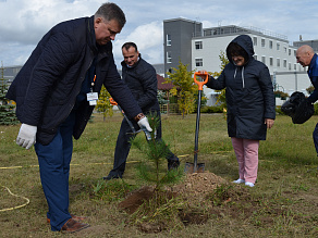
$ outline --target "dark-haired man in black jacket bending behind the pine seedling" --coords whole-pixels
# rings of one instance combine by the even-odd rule
[[[131,89],[144,114],[156,113],[160,117],[160,108],[157,99],[157,74],[155,68],[142,59],[134,42],[125,42],[122,46],[124,60],[122,61],[122,78]],[[138,126],[133,122],[138,130]],[[156,131],[156,139],[161,140],[161,121]],[[117,139],[113,168],[103,179],[122,178],[125,171],[126,159],[130,153],[130,139],[135,135],[125,118],[123,118]],[[178,168],[179,158],[171,151],[167,155],[168,170]]]

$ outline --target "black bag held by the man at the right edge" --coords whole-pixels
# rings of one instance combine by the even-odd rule
[[[308,102],[301,91],[292,93],[290,99],[282,104],[281,110],[292,117],[294,124],[307,122],[315,113],[314,104]]]

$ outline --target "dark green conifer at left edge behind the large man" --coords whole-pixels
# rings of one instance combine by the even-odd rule
[[[8,85],[4,80],[4,67],[1,65],[1,77],[0,77],[0,125],[14,125],[19,121],[15,116],[14,108],[15,105],[10,104],[9,100],[5,98],[8,91]]]

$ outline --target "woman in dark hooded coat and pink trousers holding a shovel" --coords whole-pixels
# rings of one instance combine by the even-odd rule
[[[218,79],[209,77],[207,87],[225,88],[228,134],[238,162],[236,184],[254,187],[258,170],[259,140],[276,118],[273,87],[268,67],[255,60],[253,41],[241,35],[227,48],[230,61]]]

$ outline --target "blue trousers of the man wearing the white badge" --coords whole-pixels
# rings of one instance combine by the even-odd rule
[[[73,151],[75,113],[71,113],[48,146],[35,145],[40,179],[47,199],[51,230],[61,230],[71,215],[69,213],[69,175]]]

